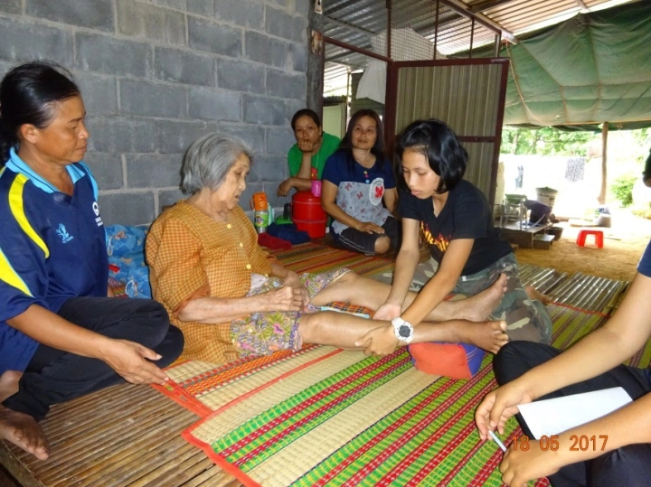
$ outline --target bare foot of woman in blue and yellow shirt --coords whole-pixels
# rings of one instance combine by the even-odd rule
[[[50,456],[50,446],[36,420],[3,406],[0,406],[0,440],[23,448],[39,460],[47,460]]]

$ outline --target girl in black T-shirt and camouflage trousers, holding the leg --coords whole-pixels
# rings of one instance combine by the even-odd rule
[[[486,197],[462,179],[467,152],[454,132],[439,120],[416,121],[402,134],[396,155],[402,245],[391,293],[374,318],[417,326],[450,293],[476,295],[503,280],[505,295],[492,316],[506,322],[508,339],[549,343],[552,319],[540,301],[525,293],[513,250],[495,229]],[[419,263],[419,235],[429,243],[435,274],[402,309]],[[378,330],[361,342],[368,351],[385,353],[397,341]]]

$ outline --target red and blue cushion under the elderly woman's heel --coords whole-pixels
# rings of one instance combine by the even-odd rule
[[[426,374],[470,379],[484,359],[484,351],[467,343],[414,343],[408,347],[414,367]]]

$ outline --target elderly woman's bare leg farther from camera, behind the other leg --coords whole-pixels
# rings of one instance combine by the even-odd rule
[[[492,286],[487,287],[481,293],[458,301],[444,301],[428,314],[427,320],[431,322],[447,320],[480,322],[486,320],[486,317],[491,314],[505,294],[505,284],[506,276],[501,275]],[[312,304],[323,306],[334,301],[342,301],[376,310],[386,301],[390,290],[391,286],[380,281],[349,272],[326,286],[312,298]],[[415,297],[416,293],[410,292],[402,309],[407,308]]]

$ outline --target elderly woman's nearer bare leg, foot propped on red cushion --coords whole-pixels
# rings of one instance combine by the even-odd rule
[[[367,320],[351,314],[321,312],[301,316],[298,332],[304,343],[318,343],[335,347],[362,350],[355,342],[364,334],[389,322]],[[506,342],[505,322],[475,323],[451,320],[445,323],[423,322],[414,327],[414,343],[464,342],[496,353]]]

